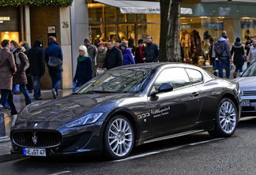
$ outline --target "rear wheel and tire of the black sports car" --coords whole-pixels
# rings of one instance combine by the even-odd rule
[[[213,137],[228,137],[235,132],[238,123],[238,112],[234,102],[231,99],[221,99],[217,110],[215,128],[209,131]]]

